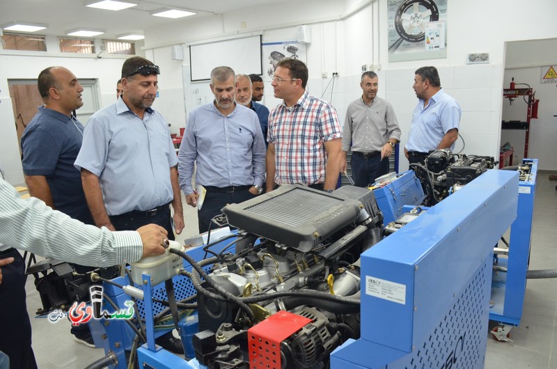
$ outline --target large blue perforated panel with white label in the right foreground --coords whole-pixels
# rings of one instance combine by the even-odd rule
[[[515,220],[518,182],[487,171],[364,252],[361,338],[331,368],[483,368],[493,245]]]

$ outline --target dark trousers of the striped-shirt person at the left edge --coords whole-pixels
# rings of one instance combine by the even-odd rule
[[[0,259],[10,257],[14,261],[2,267],[0,283],[0,351],[10,357],[11,369],[37,368],[27,314],[25,262],[16,249],[0,252]]]

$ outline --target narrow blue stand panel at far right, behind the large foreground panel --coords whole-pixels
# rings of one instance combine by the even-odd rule
[[[523,159],[522,164],[531,164],[532,168],[528,178],[519,181],[518,217],[510,227],[509,255],[499,256],[497,262],[507,272],[493,274],[494,305],[489,313],[490,320],[514,326],[520,323],[526,291],[538,159]]]

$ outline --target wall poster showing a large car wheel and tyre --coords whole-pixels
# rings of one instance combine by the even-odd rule
[[[388,0],[389,61],[447,56],[448,0]]]

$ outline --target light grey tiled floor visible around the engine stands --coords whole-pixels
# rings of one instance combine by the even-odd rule
[[[550,182],[548,175],[543,171],[538,173],[530,269],[557,269],[557,182]],[[197,233],[195,210],[187,207],[185,211],[187,229],[178,240]],[[33,316],[40,306],[38,292],[29,278],[29,314]],[[529,280],[521,324],[512,329],[512,342],[496,342],[489,337],[485,368],[557,369],[556,322],[557,279]],[[75,343],[67,321],[52,324],[46,319],[31,318],[31,324],[33,349],[41,369],[84,368],[104,356],[103,350]]]

